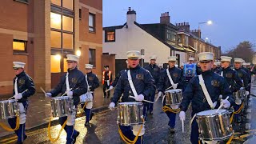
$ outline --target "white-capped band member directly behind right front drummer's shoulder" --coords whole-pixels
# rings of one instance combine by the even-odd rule
[[[237,72],[230,68],[231,59],[231,57],[221,56],[222,70],[220,70],[219,74],[229,84],[231,92],[237,92],[242,87],[242,80],[238,77]]]

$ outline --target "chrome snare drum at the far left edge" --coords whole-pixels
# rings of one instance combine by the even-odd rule
[[[0,119],[14,118],[18,115],[18,102],[15,99],[0,101]]]

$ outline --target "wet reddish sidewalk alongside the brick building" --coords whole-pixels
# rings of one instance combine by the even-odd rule
[[[111,90],[111,94],[113,94],[113,90]],[[6,99],[7,98],[0,98],[0,100]],[[107,106],[109,106],[109,104],[110,98],[103,98],[102,86],[98,87],[94,93],[93,110],[104,110],[107,108]],[[78,108],[81,109],[81,106]],[[81,112],[82,110],[79,111]],[[41,93],[41,91],[38,91],[36,94],[29,98],[29,107],[26,114],[26,130],[47,124],[50,121],[51,116],[50,98],[46,98],[44,94]],[[31,121],[31,119],[33,119],[33,121]],[[57,118],[54,118],[53,120],[56,119]],[[0,120],[0,122],[4,122],[7,126],[9,126],[6,120]],[[8,134],[13,133],[7,132],[0,127],[0,137],[6,136]]]

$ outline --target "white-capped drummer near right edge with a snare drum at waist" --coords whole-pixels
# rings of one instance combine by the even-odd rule
[[[242,79],[242,88],[246,90],[246,96],[249,94],[250,87],[248,86],[248,77],[246,71],[241,69],[242,58],[234,58],[234,70],[238,73],[238,77]],[[237,111],[242,104],[241,99],[235,99],[234,110]],[[234,122],[241,122],[241,115],[234,114]]]

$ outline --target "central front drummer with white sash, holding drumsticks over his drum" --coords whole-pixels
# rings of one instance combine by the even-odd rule
[[[137,50],[131,50],[127,52],[128,65],[130,70],[127,70],[118,80],[118,84],[114,90],[114,96],[110,102],[110,110],[116,106],[119,98],[122,96],[122,102],[142,102],[144,99],[149,100],[150,94],[154,93],[156,87],[154,85],[154,78],[151,76],[148,70],[143,69],[139,66],[139,56],[140,52]],[[130,83],[128,81],[128,72],[130,72],[132,83],[134,83],[134,89],[131,89]],[[138,95],[134,94],[136,92]],[[130,98],[132,95],[135,98]],[[129,138],[131,141],[134,140],[135,135],[138,134],[141,125],[135,126],[120,126],[122,134]],[[143,142],[143,135],[145,134],[145,128],[138,134],[138,139],[136,144]]]

